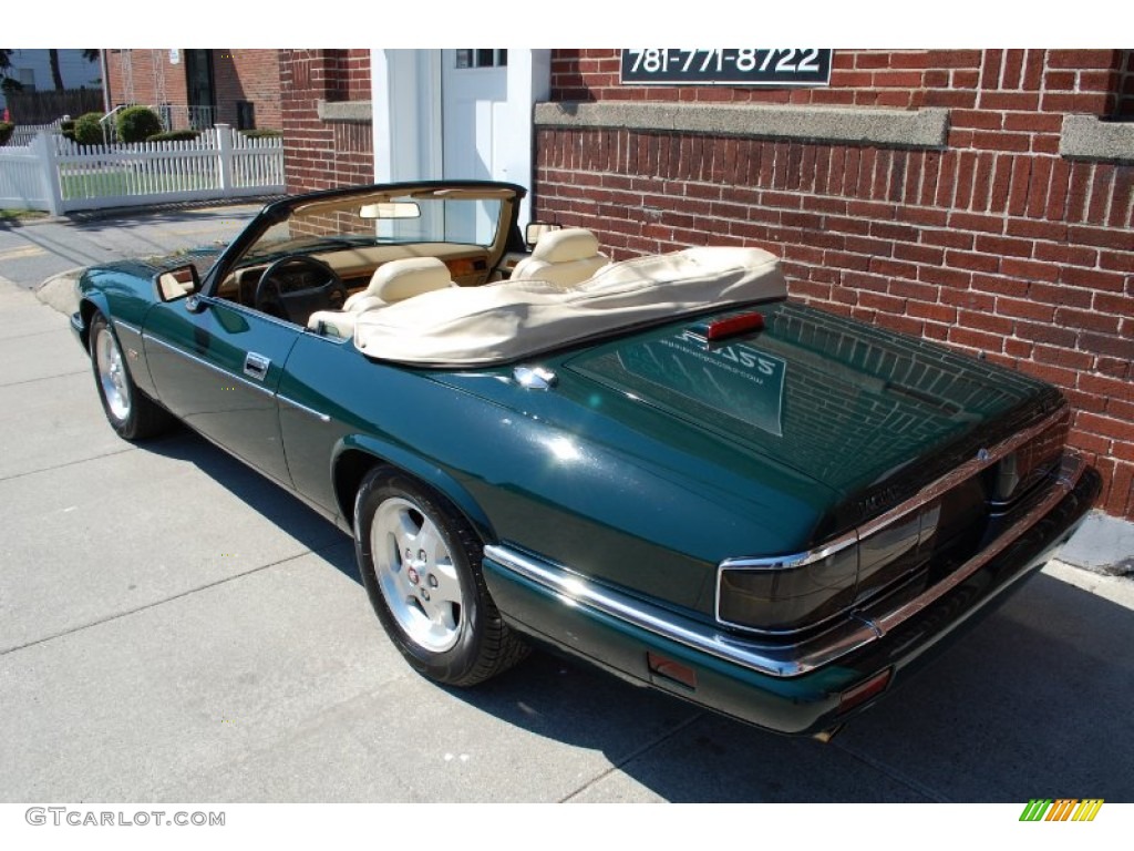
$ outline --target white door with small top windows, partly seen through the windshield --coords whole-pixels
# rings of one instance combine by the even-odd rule
[[[508,100],[508,51],[466,48],[441,51],[442,174],[451,179],[506,180],[506,149],[498,132]],[[479,242],[491,238],[485,213],[465,221],[447,221],[449,238]]]

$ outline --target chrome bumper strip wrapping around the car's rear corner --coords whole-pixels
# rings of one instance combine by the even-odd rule
[[[1085,469],[1086,464],[1081,456],[1065,453],[1057,481],[1051,483],[1042,499],[1031,506],[988,548],[913,600],[881,616],[868,615],[860,610],[848,612],[846,620],[836,626],[814,638],[789,644],[762,644],[756,640],[737,639],[719,631],[716,626],[606,588],[566,567],[507,546],[486,546],[484,556],[553,592],[568,606],[600,612],[631,626],[760,674],[778,677],[799,676],[885,638],[906,620],[947,595],[1051,512],[1078,483]]]

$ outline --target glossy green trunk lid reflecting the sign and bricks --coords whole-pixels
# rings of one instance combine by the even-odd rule
[[[700,319],[564,365],[835,490],[820,534],[869,520],[1060,404],[1042,382],[936,344],[790,302],[755,310],[759,330],[710,342],[720,317]]]

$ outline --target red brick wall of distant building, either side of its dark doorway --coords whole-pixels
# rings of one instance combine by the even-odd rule
[[[110,103],[142,103],[159,106],[159,81],[164,77],[164,102],[175,107],[188,104],[185,82],[185,57],[177,65],[169,61],[169,50],[130,50],[130,81],[133,98],[127,91],[127,75],[124,69],[127,51],[107,51],[107,78]],[[213,92],[217,100],[217,121],[237,126],[237,101],[255,104],[257,128],[280,129],[280,74],[278,50],[213,50]],[[181,113],[175,113],[178,125],[185,123]]]

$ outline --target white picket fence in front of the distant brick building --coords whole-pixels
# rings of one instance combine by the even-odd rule
[[[0,207],[56,216],[282,192],[282,140],[227,125],[193,141],[85,146],[42,132],[28,145],[0,148]]]

